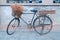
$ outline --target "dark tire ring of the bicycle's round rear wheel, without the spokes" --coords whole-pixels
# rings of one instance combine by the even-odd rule
[[[42,26],[42,27],[41,27],[41,30],[40,30],[41,32],[40,32],[40,31],[38,32],[35,25],[37,24],[36,21],[37,21],[39,18],[41,18],[41,17],[43,17],[43,16],[38,16],[38,17],[34,20],[34,22],[33,22],[33,28],[34,28],[34,30],[35,30],[38,34],[44,35],[44,34],[47,34],[47,33],[49,33],[49,32],[51,31],[52,26],[53,26],[53,25],[52,25],[53,22],[52,22],[52,20],[50,19],[50,17],[44,16],[45,18],[48,18],[49,21],[50,21],[50,25],[51,25],[51,26],[50,26],[50,29],[48,30],[48,32],[43,33],[44,27]],[[36,24],[35,24],[35,23],[36,23]],[[41,25],[40,25],[40,26],[41,26]],[[42,30],[43,30],[43,31],[42,31]]]

